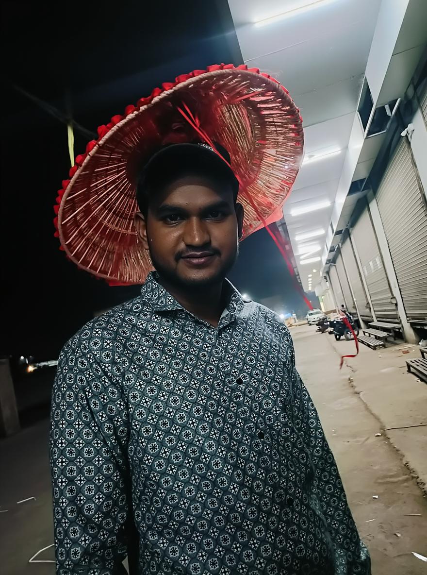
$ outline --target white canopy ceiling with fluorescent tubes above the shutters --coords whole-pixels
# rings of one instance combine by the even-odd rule
[[[313,6],[265,26],[254,25],[303,5]],[[420,17],[427,12],[427,0],[407,0],[401,10],[399,0],[229,0],[229,6],[245,63],[278,78],[290,91],[303,117],[305,163],[283,213],[302,283],[307,287],[307,274],[313,265],[300,266],[298,246],[320,244],[318,255],[324,248],[328,251],[332,214],[336,218],[350,182],[369,175],[384,140],[383,135],[363,140],[355,116],[368,57],[370,70],[379,70],[376,60],[384,64],[384,70],[377,74],[378,91],[386,76],[379,104],[401,96],[427,41],[426,20]],[[394,34],[394,40],[387,52],[387,62],[383,62],[380,56],[387,44],[390,13],[394,15],[395,30],[388,36]],[[338,150],[337,155],[313,161],[316,156]],[[311,161],[307,163],[309,156]],[[292,209],[323,200],[331,205],[291,216]],[[338,220],[340,227],[351,216],[356,201],[357,197],[345,201]],[[298,233],[319,228],[324,229],[321,237],[295,242]]]

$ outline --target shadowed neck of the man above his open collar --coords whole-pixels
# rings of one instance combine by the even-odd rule
[[[188,312],[217,327],[221,313],[226,307],[226,282],[215,283],[197,289],[179,289],[159,277],[157,280]]]

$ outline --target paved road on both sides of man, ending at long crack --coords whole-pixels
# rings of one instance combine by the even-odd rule
[[[427,573],[427,563],[411,554],[427,555],[426,500],[387,438],[375,437],[380,423],[349,383],[353,372],[338,368],[341,347],[327,334],[315,333],[314,327],[293,328],[292,335],[298,369],[320,413],[360,534],[370,548],[373,575]],[[348,350],[349,344],[342,343]],[[362,353],[353,365],[370,357]],[[54,573],[53,563],[28,563],[34,553],[53,543],[47,430],[44,420],[0,442],[0,511],[8,510],[0,513],[0,565],[6,575]],[[378,499],[372,499],[374,495]],[[36,500],[17,504],[27,497]],[[407,516],[411,513],[421,516]],[[52,558],[50,548],[37,560]]]

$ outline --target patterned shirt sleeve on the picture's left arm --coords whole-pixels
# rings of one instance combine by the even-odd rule
[[[113,355],[101,340],[76,336],[58,362],[50,434],[57,575],[126,573],[128,411]]]

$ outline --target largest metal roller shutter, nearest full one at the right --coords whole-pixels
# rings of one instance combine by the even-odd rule
[[[427,212],[408,145],[399,143],[376,203],[409,320],[427,321]]]

